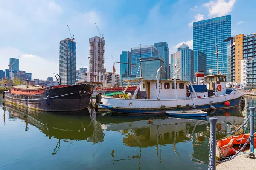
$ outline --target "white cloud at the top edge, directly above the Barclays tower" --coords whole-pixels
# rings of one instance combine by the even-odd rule
[[[209,9],[209,16],[220,17],[230,13],[235,2],[236,0],[211,0],[203,6]]]

